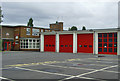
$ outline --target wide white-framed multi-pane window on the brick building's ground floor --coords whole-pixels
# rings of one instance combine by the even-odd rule
[[[21,49],[39,49],[39,39],[22,39],[20,40]]]

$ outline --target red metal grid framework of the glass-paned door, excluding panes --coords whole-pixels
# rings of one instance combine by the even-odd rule
[[[114,41],[114,39],[117,40],[117,33],[99,33],[98,36],[100,34],[102,37],[98,37],[98,54],[117,55],[117,51],[115,52],[115,49],[117,50],[117,41]],[[104,34],[107,34],[107,36],[104,37]],[[112,37],[109,37],[110,34],[112,34]],[[107,42],[104,41],[105,39],[107,40]],[[112,39],[112,42],[109,42],[109,39]],[[100,42],[99,40],[102,40],[102,42]],[[99,44],[101,44],[102,46],[99,46]],[[105,46],[104,44],[106,44],[107,46]],[[109,46],[109,44],[111,44],[112,46]],[[102,51],[99,51],[100,49],[102,49]],[[107,52],[105,52],[104,49],[107,49]]]

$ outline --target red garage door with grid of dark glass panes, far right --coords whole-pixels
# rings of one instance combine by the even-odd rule
[[[98,34],[98,54],[117,55],[117,33]]]

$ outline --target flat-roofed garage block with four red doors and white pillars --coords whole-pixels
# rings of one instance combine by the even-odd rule
[[[40,33],[41,52],[120,55],[120,29]]]

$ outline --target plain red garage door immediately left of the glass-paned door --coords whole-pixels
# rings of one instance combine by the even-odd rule
[[[77,35],[77,52],[93,53],[93,34]]]

